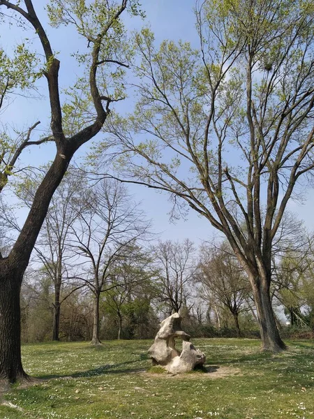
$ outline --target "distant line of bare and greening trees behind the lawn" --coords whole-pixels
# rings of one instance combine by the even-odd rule
[[[28,205],[40,179],[18,191]],[[88,187],[82,188],[82,184]],[[279,329],[314,330],[313,240],[287,213],[272,258]],[[193,336],[259,337],[246,272],[223,240],[160,241],[126,187],[71,170],[54,195],[22,294],[22,341],[153,338],[174,312]]]

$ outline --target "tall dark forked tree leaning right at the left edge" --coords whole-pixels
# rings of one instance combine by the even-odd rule
[[[8,19],[11,18],[13,24],[15,22],[28,24],[31,28],[30,31],[35,31],[43,48],[44,54],[36,55],[38,59],[43,57],[37,74],[47,80],[51,113],[50,137],[57,148],[56,156],[38,186],[31,209],[15,244],[8,256],[0,255],[0,311],[2,314],[0,321],[0,379],[4,384],[28,378],[22,367],[20,351],[22,277],[43,225],[50,200],[66,173],[70,160],[77,149],[94,138],[100,131],[107,118],[110,103],[121,98],[121,96],[117,96],[119,92],[111,88],[114,83],[111,75],[114,75],[113,78],[118,82],[120,78],[117,71],[110,71],[110,67],[114,66],[119,69],[124,66],[122,61],[125,51],[125,36],[121,14],[126,8],[131,8],[133,13],[137,13],[135,3],[136,1],[129,0],[121,0],[120,3],[94,1],[87,5],[85,1],[52,0],[47,7],[54,27],[59,27],[61,24],[73,24],[88,47],[86,50],[83,48],[80,50],[82,53],[77,54],[77,59],[85,69],[84,75],[79,79],[84,84],[85,90],[80,94],[88,108],[89,119],[82,117],[80,124],[74,126],[70,124],[70,120],[73,121],[74,115],[80,114],[80,106],[73,101],[70,105],[63,103],[62,108],[59,90],[60,62],[52,48],[47,32],[38,18],[33,2],[24,0],[24,4],[22,4],[21,1],[0,1],[2,17],[11,13]],[[8,10],[8,12],[3,13],[2,10]],[[25,42],[27,41],[25,40]],[[22,72],[22,74],[24,73]],[[77,87],[77,83],[74,88]],[[9,163],[9,172],[10,166],[12,165]],[[6,179],[4,179],[4,183],[6,183]],[[3,180],[1,184],[3,185]]]

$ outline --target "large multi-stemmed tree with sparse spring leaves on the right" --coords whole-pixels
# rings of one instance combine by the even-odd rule
[[[225,235],[251,283],[262,348],[281,351],[271,251],[314,168],[313,3],[204,0],[196,19],[199,50],[135,35],[139,100],[107,120],[103,147],[116,147],[122,180],[167,191]]]

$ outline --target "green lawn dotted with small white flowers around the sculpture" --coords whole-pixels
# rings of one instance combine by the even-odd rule
[[[6,393],[1,419],[314,418],[314,341],[279,355],[251,339],[193,339],[206,374],[147,372],[151,341],[23,346],[24,368],[45,378]]]

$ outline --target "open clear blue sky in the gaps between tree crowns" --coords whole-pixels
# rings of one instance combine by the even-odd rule
[[[47,28],[48,34],[52,41],[54,50],[59,51],[59,59],[61,61],[61,82],[65,87],[66,84],[73,81],[73,75],[79,73],[79,68],[70,67],[73,61],[70,59],[70,52],[80,47],[82,40],[77,38],[69,28],[52,29],[47,26],[47,20],[42,8],[43,3],[39,0],[33,2],[41,7],[38,9],[38,15],[41,17],[44,26]],[[143,0],[143,8],[147,13],[147,23],[149,22],[151,29],[156,35],[156,41],[160,42],[165,38],[174,39],[175,41],[183,39],[190,41],[193,46],[197,46],[197,34],[195,31],[195,20],[193,15],[194,0]],[[139,29],[144,22],[140,19],[128,17],[126,27],[128,30]],[[1,25],[0,42],[8,51],[12,50],[13,45],[20,42],[25,33],[20,29],[16,29],[13,25],[8,27]],[[41,80],[39,86],[41,98],[23,98],[17,96],[10,108],[5,114],[1,115],[3,122],[15,124],[21,128],[27,128],[34,122],[40,120],[33,139],[39,135],[45,128],[49,126],[49,105],[47,101],[47,86],[45,80]],[[20,122],[17,124],[16,115]],[[84,147],[80,151],[80,156],[87,152],[88,147]],[[37,165],[45,163],[54,156],[53,145],[43,145],[41,147],[32,147],[23,154],[23,161],[27,164]],[[188,237],[190,240],[200,242],[200,240],[211,240],[218,233],[211,227],[209,221],[200,218],[193,210],[190,210],[186,220],[179,220],[176,223],[170,223],[168,213],[171,210],[171,203],[168,202],[167,194],[156,193],[156,191],[146,189],[144,186],[130,186],[130,193],[133,194],[135,200],[142,201],[142,208],[147,212],[147,217],[154,222],[154,230],[160,232],[160,238],[183,240]],[[291,201],[290,210],[294,211],[299,218],[304,219],[308,228],[314,226],[312,207],[314,203],[313,190],[307,192],[307,201],[305,204]]]

